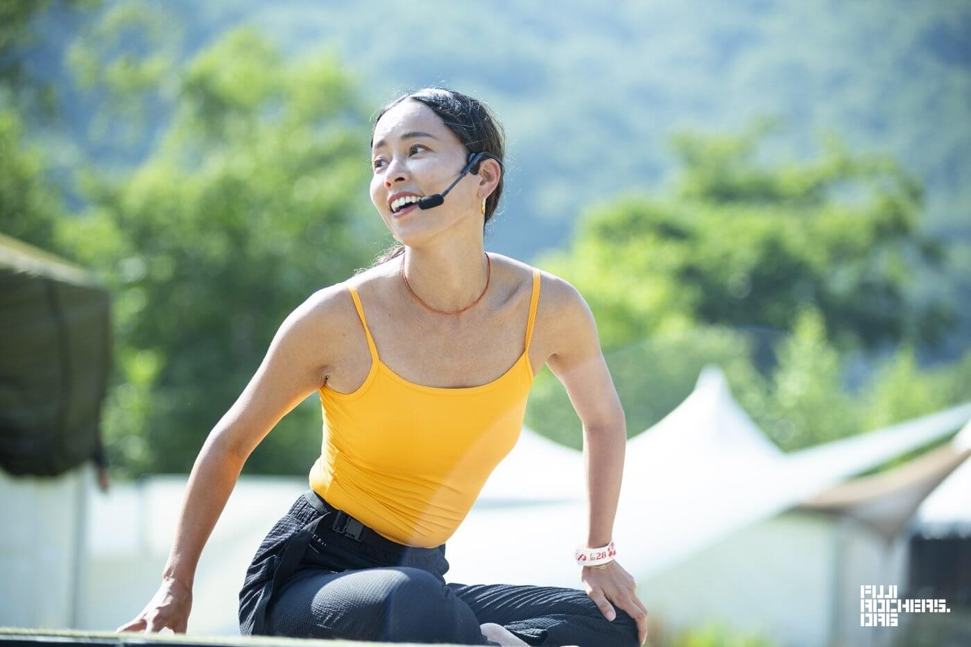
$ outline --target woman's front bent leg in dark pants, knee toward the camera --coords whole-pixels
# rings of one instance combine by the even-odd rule
[[[270,599],[266,623],[297,638],[488,644],[468,605],[410,566],[300,571]]]

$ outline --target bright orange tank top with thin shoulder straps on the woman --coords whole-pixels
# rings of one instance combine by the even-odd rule
[[[519,439],[535,377],[529,340],[540,272],[533,270],[522,355],[478,387],[427,387],[394,373],[378,358],[357,290],[350,290],[371,370],[354,392],[320,388],[324,438],[310,486],[386,538],[433,548],[452,536]]]

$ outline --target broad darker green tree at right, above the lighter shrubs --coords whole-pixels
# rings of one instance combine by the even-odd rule
[[[919,185],[835,139],[818,160],[758,160],[765,131],[676,137],[673,194],[586,210],[571,249],[540,262],[590,295],[610,347],[691,322],[786,330],[809,303],[844,348],[937,341],[952,309],[907,292],[913,264],[940,258]]]

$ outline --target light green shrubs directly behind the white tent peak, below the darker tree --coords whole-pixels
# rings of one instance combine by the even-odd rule
[[[774,342],[774,343],[773,343]],[[755,369],[759,348],[776,363]],[[654,336],[605,353],[627,421],[627,437],[670,413],[694,388],[707,364],[725,372],[732,394],[754,423],[784,452],[795,452],[935,413],[968,400],[971,352],[952,364],[921,368],[903,346],[856,390],[847,386],[846,358],[827,341],[819,310],[806,307],[780,340],[757,333],[697,327]],[[549,371],[536,378],[526,426],[564,445],[583,446],[580,420]],[[945,438],[946,439],[946,438]],[[939,441],[940,442],[940,441]],[[881,471],[936,446],[917,448],[875,467]]]

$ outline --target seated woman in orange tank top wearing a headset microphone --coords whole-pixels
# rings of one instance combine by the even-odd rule
[[[285,319],[192,468],[158,593],[118,630],[184,632],[196,563],[244,462],[316,391],[323,451],[311,489],[253,558],[240,592],[242,633],[645,641],[647,610],[614,560],[624,418],[593,318],[565,281],[484,251],[504,148],[485,106],[450,89],[425,88],[382,109],[371,199],[401,245]],[[445,541],[515,445],[544,364],[584,425],[590,505],[577,563],[586,591],[447,584]]]

